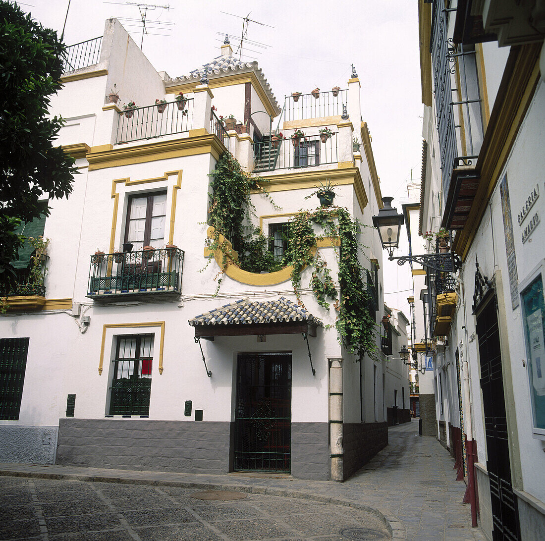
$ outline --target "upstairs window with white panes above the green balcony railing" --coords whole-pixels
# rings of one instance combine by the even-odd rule
[[[166,202],[166,192],[129,199],[125,242],[131,242],[133,250],[142,250],[144,246],[161,248],[165,244]]]

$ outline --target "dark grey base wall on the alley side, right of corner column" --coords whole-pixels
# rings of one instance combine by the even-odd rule
[[[344,479],[348,479],[388,445],[387,423],[344,423]]]

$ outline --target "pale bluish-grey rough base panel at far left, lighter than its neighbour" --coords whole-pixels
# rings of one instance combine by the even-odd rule
[[[58,427],[0,426],[0,462],[53,464]]]

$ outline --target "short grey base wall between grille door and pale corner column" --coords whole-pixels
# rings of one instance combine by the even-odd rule
[[[330,473],[329,424],[292,423],[292,475],[327,481]]]

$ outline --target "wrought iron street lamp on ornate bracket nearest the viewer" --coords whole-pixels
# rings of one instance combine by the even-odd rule
[[[392,208],[393,197],[383,197],[384,208],[373,216],[373,226],[378,230],[380,244],[383,250],[387,250],[388,259],[397,260],[398,265],[409,262],[420,263],[423,267],[438,272],[456,272],[462,266],[462,260],[454,252],[427,253],[418,256],[393,256],[393,251],[399,247],[399,234],[404,223],[403,215],[397,214],[396,208]]]

